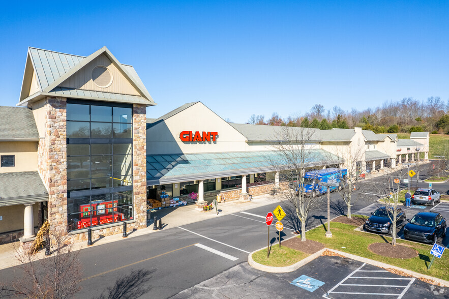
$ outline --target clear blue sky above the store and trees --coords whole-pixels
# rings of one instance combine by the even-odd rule
[[[66,4],[67,3],[67,4]],[[158,117],[201,101],[236,123],[449,100],[448,1],[9,2],[0,105],[18,102],[28,46],[133,65]]]

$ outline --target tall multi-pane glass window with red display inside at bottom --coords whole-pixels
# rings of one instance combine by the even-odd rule
[[[69,230],[133,219],[132,105],[67,102]]]

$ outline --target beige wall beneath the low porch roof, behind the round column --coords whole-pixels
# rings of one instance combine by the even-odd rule
[[[23,216],[25,212],[25,206],[23,204],[2,206],[0,207],[0,216],[3,216],[3,220],[0,221],[0,233],[23,230]],[[33,205],[34,225],[39,225],[38,219],[39,203]]]

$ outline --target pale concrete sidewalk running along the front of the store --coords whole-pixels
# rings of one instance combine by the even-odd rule
[[[258,196],[254,196],[252,201],[239,202],[239,201],[228,201],[226,203],[218,203],[218,215],[214,210],[209,212],[200,212],[195,210],[195,204],[190,204],[186,206],[179,207],[168,207],[163,208],[161,210],[153,211],[148,213],[147,219],[147,227],[144,229],[139,229],[136,231],[128,231],[129,236],[127,238],[133,238],[136,236],[148,234],[148,233],[156,233],[159,230],[153,230],[153,217],[157,216],[162,217],[162,225],[163,230],[182,226],[198,221],[203,221],[207,219],[213,219],[216,217],[221,217],[224,215],[234,214],[237,212],[250,210],[255,207],[260,207],[264,205],[268,205],[271,203],[277,203],[281,201],[281,195],[272,196],[270,194],[262,194]],[[123,240],[122,234],[110,235],[99,238],[97,240],[92,240],[93,245],[89,247],[99,246],[103,244],[112,243],[115,241]],[[15,249],[14,246],[17,246],[19,243],[5,244],[0,245],[0,270],[8,267],[12,267],[18,265],[19,262],[15,258]],[[86,242],[76,243],[73,246],[73,250],[81,250],[87,248]],[[38,259],[44,258],[45,250],[41,250],[36,254]]]

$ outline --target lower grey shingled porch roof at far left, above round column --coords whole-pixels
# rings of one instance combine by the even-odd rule
[[[37,171],[0,173],[0,206],[48,200],[48,192]]]

